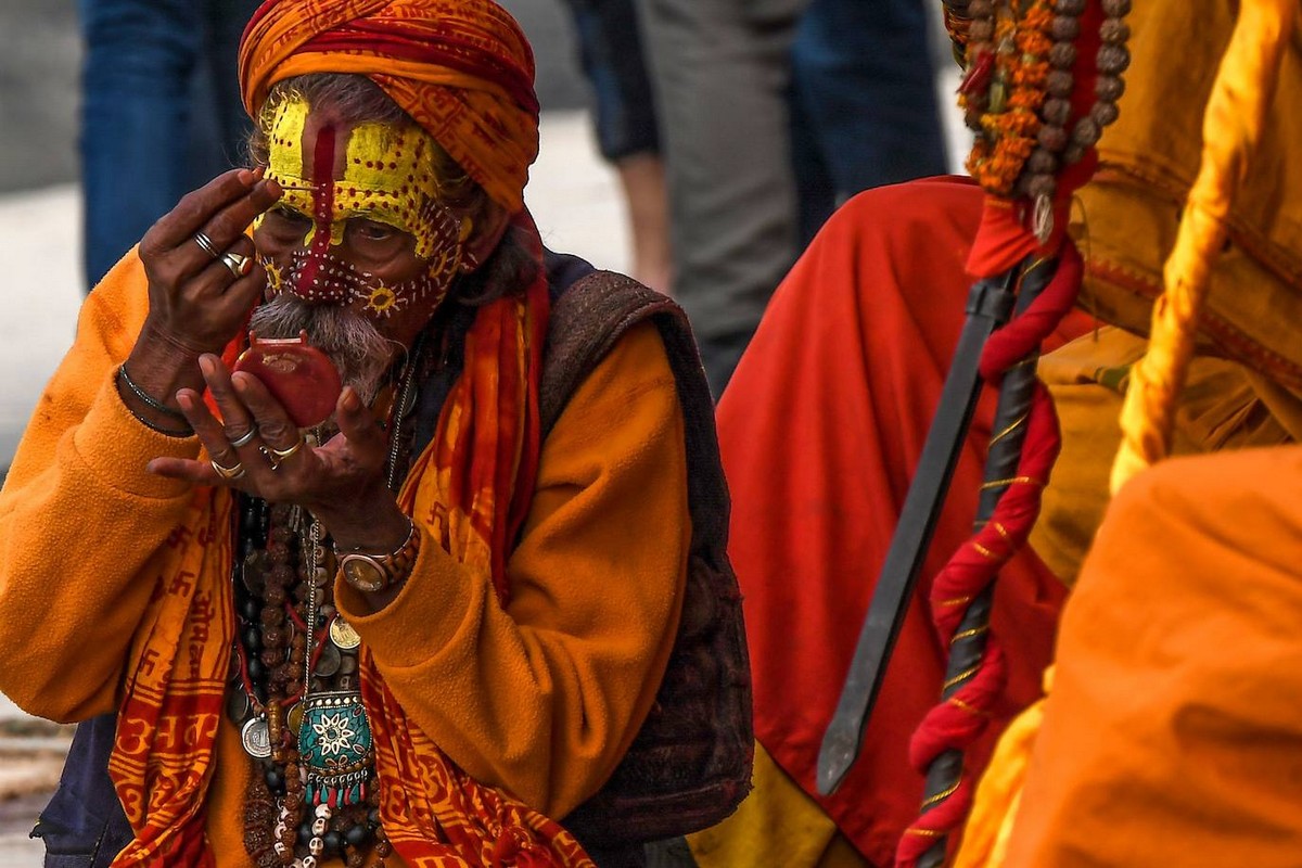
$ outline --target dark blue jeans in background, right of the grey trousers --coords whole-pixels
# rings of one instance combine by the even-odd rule
[[[792,46],[801,236],[855,193],[945,172],[923,0],[811,0]]]

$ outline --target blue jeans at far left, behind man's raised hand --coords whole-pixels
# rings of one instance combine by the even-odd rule
[[[79,0],[89,285],[190,190],[243,163],[236,52],[255,0]]]

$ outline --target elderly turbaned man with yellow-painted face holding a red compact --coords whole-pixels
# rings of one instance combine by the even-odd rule
[[[0,498],[0,690],[116,713],[36,833],[85,864],[590,864],[555,819],[674,647],[699,362],[607,331],[543,418],[553,305],[604,273],[523,208],[533,60],[488,0],[272,0],[240,60],[258,168],[90,295]],[[301,432],[232,362],[302,331],[345,385]]]

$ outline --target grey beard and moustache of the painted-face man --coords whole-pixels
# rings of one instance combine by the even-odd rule
[[[258,337],[298,337],[329,357],[344,385],[353,387],[362,403],[370,406],[384,384],[401,345],[380,334],[365,315],[337,305],[306,305],[280,293],[253,312],[249,331]]]

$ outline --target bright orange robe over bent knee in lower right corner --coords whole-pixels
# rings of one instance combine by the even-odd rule
[[[1062,614],[1005,865],[1302,864],[1302,448],[1173,458]]]

